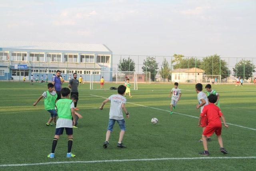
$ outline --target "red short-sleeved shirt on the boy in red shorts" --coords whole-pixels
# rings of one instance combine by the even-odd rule
[[[222,115],[220,108],[214,103],[209,103],[204,106],[204,109],[200,114],[201,117],[207,117],[208,125],[221,125],[220,117]]]

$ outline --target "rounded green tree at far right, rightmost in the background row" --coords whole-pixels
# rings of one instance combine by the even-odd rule
[[[248,80],[248,78],[252,77],[252,73],[255,72],[254,68],[255,65],[250,60],[240,60],[236,63],[236,67],[233,68],[233,76]]]

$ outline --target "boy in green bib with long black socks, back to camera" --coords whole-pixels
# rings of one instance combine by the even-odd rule
[[[55,136],[52,141],[52,152],[48,155],[48,158],[54,158],[54,151],[58,142],[58,139],[60,138],[60,135],[63,134],[64,128],[66,130],[66,134],[68,135],[68,153],[67,157],[75,157],[73,153],[71,153],[71,148],[73,144],[73,125],[75,124],[75,120],[72,117],[75,118],[75,108],[74,108],[74,102],[71,99],[68,99],[70,95],[69,88],[62,88],[61,89],[61,95],[62,99],[59,99],[56,102],[56,108],[58,113],[58,120],[56,124],[56,131]]]

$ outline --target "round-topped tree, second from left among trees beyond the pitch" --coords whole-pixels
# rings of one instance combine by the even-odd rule
[[[150,72],[151,80],[155,80],[156,74],[158,70],[158,63],[156,62],[154,57],[148,57],[143,61],[142,71]]]

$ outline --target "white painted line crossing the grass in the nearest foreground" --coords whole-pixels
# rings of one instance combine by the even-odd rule
[[[68,163],[110,163],[124,161],[159,161],[159,160],[206,160],[206,159],[256,159],[256,156],[249,157],[183,157],[183,158],[154,158],[154,159],[120,159],[120,160],[92,160],[92,161],[56,161],[45,163],[22,163],[22,164],[6,164],[0,167],[13,166],[34,166],[34,165],[51,165],[51,164],[68,164]]]

